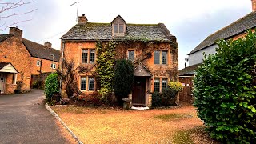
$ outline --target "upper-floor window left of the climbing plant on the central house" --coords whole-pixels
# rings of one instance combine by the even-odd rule
[[[83,49],[82,50],[82,63],[94,63],[95,50]]]

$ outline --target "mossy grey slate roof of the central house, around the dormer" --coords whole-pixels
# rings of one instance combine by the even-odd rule
[[[172,36],[164,24],[127,24],[124,37],[113,37],[110,23],[77,24],[62,36],[63,40],[138,40],[170,42]]]

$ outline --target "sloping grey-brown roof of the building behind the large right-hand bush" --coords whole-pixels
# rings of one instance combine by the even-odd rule
[[[241,34],[242,32],[252,29],[256,27],[256,11],[247,14],[243,18],[238,19],[236,22],[231,23],[229,26],[218,30],[214,34],[208,36],[204,41],[202,41],[197,47],[194,48],[190,52],[193,54],[199,50],[205,49],[208,46],[214,45],[214,42],[218,39],[228,39],[237,34]],[[188,54],[188,55],[190,55]]]

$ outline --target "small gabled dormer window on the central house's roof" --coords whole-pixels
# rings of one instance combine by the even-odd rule
[[[113,35],[124,36],[126,33],[126,21],[124,21],[120,15],[114,18],[111,25]]]

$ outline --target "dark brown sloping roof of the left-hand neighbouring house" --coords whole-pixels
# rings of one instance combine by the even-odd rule
[[[61,56],[59,50],[48,48],[47,46],[32,42],[25,38],[22,39],[22,42],[26,46],[26,49],[30,52],[32,57],[43,58],[52,61],[53,56],[51,54],[54,54],[54,61],[59,61],[59,58]]]

